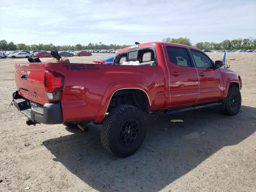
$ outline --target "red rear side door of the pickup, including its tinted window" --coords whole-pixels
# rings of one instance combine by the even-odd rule
[[[188,49],[182,46],[163,46],[170,74],[170,105],[196,103],[199,95],[199,78]]]

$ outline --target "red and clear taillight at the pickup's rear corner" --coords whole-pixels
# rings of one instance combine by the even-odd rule
[[[64,76],[51,71],[44,73],[44,86],[46,97],[49,101],[58,101],[61,99],[61,93],[64,84]]]

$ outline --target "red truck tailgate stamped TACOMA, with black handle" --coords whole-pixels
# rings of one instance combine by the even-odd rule
[[[20,96],[39,104],[48,102],[44,86],[43,64],[17,64],[15,82]]]

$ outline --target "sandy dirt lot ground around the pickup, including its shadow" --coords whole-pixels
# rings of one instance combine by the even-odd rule
[[[213,60],[222,54],[209,53]],[[212,109],[149,115],[145,141],[128,158],[104,150],[101,126],[92,124],[87,133],[63,125],[26,126],[25,116],[9,105],[14,64],[27,60],[0,59],[0,191],[256,191],[256,53],[226,57],[236,58],[231,68],[242,76],[238,115]],[[170,122],[177,118],[184,122]]]

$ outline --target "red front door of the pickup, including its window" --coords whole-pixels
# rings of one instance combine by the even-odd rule
[[[213,68],[208,56],[197,50],[190,49],[199,75],[198,102],[218,100],[222,97],[222,75],[220,69]]]

